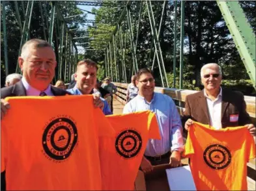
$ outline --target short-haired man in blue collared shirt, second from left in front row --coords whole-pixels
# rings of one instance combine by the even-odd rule
[[[96,62],[84,59],[78,62],[76,73],[74,75],[76,80],[76,86],[74,88],[68,89],[67,91],[73,95],[87,95],[87,94],[97,94],[100,96],[100,92],[94,92],[94,86],[97,80],[97,70],[98,66]],[[107,105],[107,101],[100,97],[100,100],[104,103],[102,111],[105,115],[111,115],[112,112]]]

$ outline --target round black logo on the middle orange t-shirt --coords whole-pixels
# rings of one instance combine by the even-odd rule
[[[141,135],[134,130],[122,131],[115,140],[117,153],[126,159],[135,157],[141,150],[141,146]]]

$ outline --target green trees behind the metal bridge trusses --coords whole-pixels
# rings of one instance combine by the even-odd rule
[[[256,31],[255,1],[239,1],[253,31]],[[43,9],[46,10],[46,21],[50,21],[51,5],[48,1],[41,1]],[[78,29],[72,31],[72,37],[85,36],[76,40],[77,44],[87,49],[83,55],[79,55],[79,59],[90,58],[100,65],[98,75],[102,79],[106,75],[106,71],[113,73],[113,80],[121,81],[126,71],[127,79],[134,74],[134,57],[132,55],[132,44],[135,44],[135,53],[139,68],[153,68],[156,76],[156,84],[161,86],[160,70],[156,57],[154,58],[155,47],[152,43],[152,31],[150,28],[149,14],[145,1],[132,1],[130,5],[132,31],[134,38],[131,39],[128,30],[127,15],[123,18],[121,13],[126,9],[128,1],[107,1],[104,0],[103,6],[93,9],[95,15],[95,23],[85,23],[87,14],[74,4],[68,1],[58,3],[61,14],[66,18],[67,26],[70,29]],[[159,31],[159,42],[164,58],[165,70],[170,86],[173,86],[173,48],[174,48],[174,3],[167,1],[167,5],[163,11],[164,1],[151,1],[156,30]],[[2,5],[2,4],[1,4]],[[27,1],[23,1],[24,8]],[[142,6],[141,6],[142,5]],[[22,14],[22,3],[18,1],[18,8],[21,15],[21,23],[23,24],[24,16]],[[9,73],[15,71],[18,50],[20,48],[20,28],[16,19],[14,3],[7,3],[7,42],[8,42],[8,62]],[[162,17],[163,13],[163,17]],[[70,16],[75,16],[71,17]],[[69,17],[69,18],[68,18]],[[162,25],[160,26],[160,20]],[[113,41],[113,31],[117,31],[117,23],[120,21],[121,33],[115,35],[116,44],[111,44],[111,53],[108,52],[107,62],[111,62],[109,68],[105,65],[106,47],[109,42]],[[55,52],[59,48],[58,33],[61,23],[55,21],[53,29],[53,43]],[[49,27],[49,26],[48,26]],[[87,27],[87,29],[83,29]],[[47,27],[46,27],[47,28]],[[3,24],[1,22],[1,29]],[[233,39],[221,16],[220,8],[216,1],[186,1],[185,3],[185,23],[184,23],[184,88],[199,89],[201,88],[200,69],[203,64],[216,62],[223,68],[223,86],[233,89],[242,90],[244,94],[255,95],[255,90],[251,86],[248,73],[244,67],[240,55],[235,47]],[[38,1],[35,1],[33,8],[33,19],[31,21],[30,38],[44,38],[42,18],[38,8]],[[48,32],[46,34],[48,38]],[[86,44],[85,44],[86,43]],[[64,49],[65,49],[64,45]],[[3,34],[1,32],[1,75],[5,79],[4,66],[4,49]],[[114,55],[115,51],[115,55]],[[179,83],[179,62],[180,62],[180,1],[178,1],[178,17],[177,17],[177,52],[175,54],[177,60],[177,86]],[[110,58],[111,54],[111,58]],[[64,55],[65,56],[65,55]],[[63,57],[64,57],[63,56]],[[123,57],[124,56],[124,57]],[[57,60],[58,60],[57,55]],[[153,64],[154,60],[154,64]],[[122,67],[125,64],[125,68]],[[154,65],[154,66],[153,66]],[[115,71],[117,68],[117,72]],[[117,75],[116,75],[117,73]],[[122,78],[123,79],[123,78]],[[3,82],[3,80],[2,80]],[[123,82],[123,81],[122,81]],[[129,82],[129,81],[128,81]]]

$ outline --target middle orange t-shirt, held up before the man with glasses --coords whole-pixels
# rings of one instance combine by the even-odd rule
[[[103,190],[134,190],[134,182],[149,138],[160,139],[150,111],[107,116],[115,138],[100,138]]]

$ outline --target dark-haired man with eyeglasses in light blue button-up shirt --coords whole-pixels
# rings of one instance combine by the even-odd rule
[[[150,110],[156,114],[161,140],[150,139],[141,161],[143,172],[152,171],[152,165],[180,165],[180,152],[183,151],[182,125],[173,99],[168,95],[154,92],[152,72],[143,68],[135,75],[135,84],[139,94],[129,101],[123,113]]]

